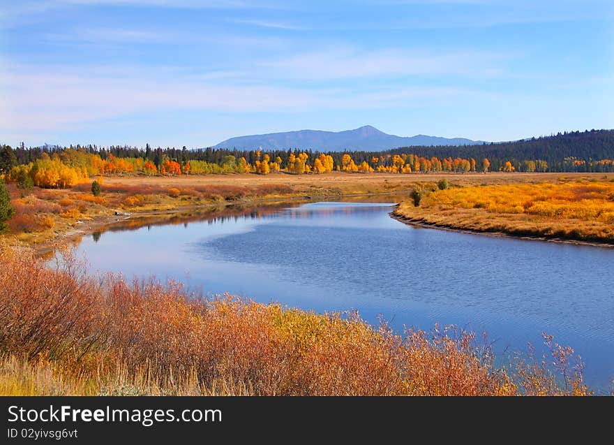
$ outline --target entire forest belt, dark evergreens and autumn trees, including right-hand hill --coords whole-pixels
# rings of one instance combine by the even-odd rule
[[[40,187],[70,187],[91,175],[209,173],[613,172],[614,131],[559,133],[509,143],[400,147],[382,151],[153,148],[128,145],[0,145],[0,175]]]

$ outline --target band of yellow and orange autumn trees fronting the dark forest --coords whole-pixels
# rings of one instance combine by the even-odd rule
[[[227,154],[221,156],[215,162],[188,157],[170,158],[165,154],[153,155],[151,152],[143,152],[142,157],[120,157],[111,153],[100,151],[86,151],[83,148],[64,148],[48,154],[43,152],[40,158],[29,164],[14,166],[6,175],[9,182],[20,181],[20,178],[29,177],[38,187],[61,188],[73,187],[75,184],[87,182],[91,176],[123,176],[123,175],[209,175],[224,173],[257,173],[269,175],[285,171],[294,175],[305,173],[330,173],[333,170],[348,173],[467,173],[487,172],[490,166],[488,159],[477,162],[473,158],[426,158],[415,154],[382,154],[382,156],[364,156],[360,153],[344,153],[340,157],[336,154],[316,152],[294,151],[287,152],[287,157],[282,159],[271,154],[256,150],[239,154]],[[285,154],[284,154],[285,155]],[[334,155],[334,156],[333,156]],[[354,161],[352,155],[359,156],[359,161]],[[151,157],[147,157],[151,156]],[[250,161],[246,159],[250,158]],[[153,158],[153,160],[152,160]],[[569,162],[576,168],[576,159]],[[567,161],[566,161],[567,162]],[[579,161],[578,161],[579,162]],[[599,161],[602,162],[602,161]],[[604,166],[608,160],[603,161]],[[548,170],[548,163],[541,160],[506,161],[500,170],[513,172],[544,172]],[[609,165],[609,164],[607,164]]]

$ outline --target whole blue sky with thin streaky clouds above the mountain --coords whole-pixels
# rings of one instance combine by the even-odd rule
[[[614,128],[611,0],[0,0],[0,143]]]

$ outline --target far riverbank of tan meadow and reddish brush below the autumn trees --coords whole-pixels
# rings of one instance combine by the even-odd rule
[[[247,207],[274,207],[287,203],[348,198],[351,196],[377,196],[378,194],[409,194],[414,187],[433,189],[438,180],[446,179],[456,187],[484,185],[533,184],[558,182],[561,178],[586,177],[597,179],[597,174],[559,173],[439,173],[429,175],[394,175],[391,173],[333,172],[326,175],[183,175],[179,177],[105,177],[101,194],[93,196],[89,184],[73,189],[39,189],[23,194],[14,184],[9,185],[11,200],[16,207],[10,221],[10,233],[4,238],[34,247],[40,254],[48,254],[60,245],[78,242],[84,235],[104,231],[111,224],[126,221],[164,221],[176,214],[207,214],[227,209]],[[477,233],[506,231],[479,230],[429,221],[424,216],[414,217],[396,212],[405,222],[424,224],[436,228],[471,230]],[[486,215],[488,217],[488,215]],[[509,233],[532,236],[527,233]],[[548,237],[543,237],[548,238]],[[584,240],[591,242],[590,240]],[[599,242],[599,241],[598,241]]]

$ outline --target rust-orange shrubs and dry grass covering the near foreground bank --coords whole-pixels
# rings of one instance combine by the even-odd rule
[[[528,358],[503,369],[454,328],[398,335],[357,314],[96,281],[70,254],[50,269],[0,245],[0,263],[3,395],[588,393],[573,351],[551,340],[554,368]]]

